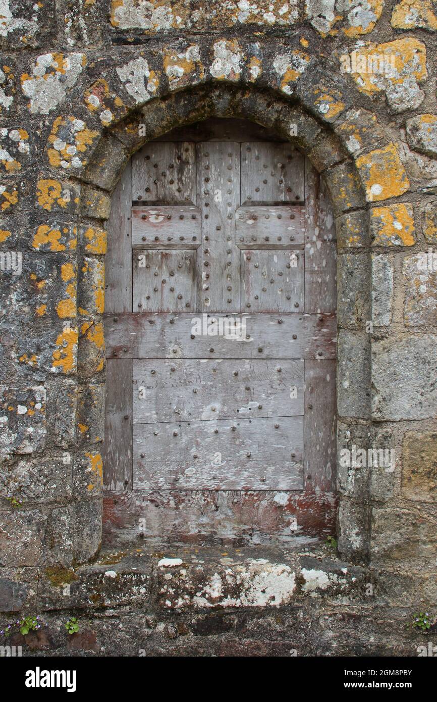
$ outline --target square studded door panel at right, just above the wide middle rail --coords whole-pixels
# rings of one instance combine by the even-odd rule
[[[242,310],[303,311],[303,251],[241,251],[241,258]]]

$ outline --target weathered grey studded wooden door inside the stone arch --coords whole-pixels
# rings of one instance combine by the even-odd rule
[[[328,198],[290,145],[245,125],[238,133],[232,124],[229,135],[226,125],[213,125],[209,140],[190,128],[147,144],[114,194],[105,305],[109,529],[120,501],[132,514],[124,527],[135,533],[143,519],[152,536],[163,523],[156,501],[162,510],[169,499],[171,509],[191,510],[190,526],[175,527],[182,539],[217,535],[193,507],[196,495],[269,495],[284,507],[288,495],[327,494],[333,503]],[[309,503],[314,510],[301,501],[302,524],[311,521]],[[295,515],[285,508],[295,524],[288,536],[303,534]],[[241,515],[229,518],[235,536]]]

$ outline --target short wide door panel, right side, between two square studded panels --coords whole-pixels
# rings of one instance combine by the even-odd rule
[[[304,246],[303,207],[239,207],[235,216],[235,240],[239,249],[298,249]]]

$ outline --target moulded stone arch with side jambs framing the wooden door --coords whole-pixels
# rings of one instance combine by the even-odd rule
[[[360,445],[370,440],[370,334],[365,330],[370,319],[368,213],[360,171],[342,140],[299,105],[253,87],[211,84],[151,100],[135,116],[105,133],[81,183],[77,424],[79,429],[86,427],[86,445],[76,454],[74,472],[76,485],[86,484],[88,489],[87,494],[83,489],[83,500],[76,508],[80,510],[81,529],[88,529],[90,538],[88,548],[78,552],[78,560],[93,557],[100,545],[102,489],[98,474],[101,477],[102,460],[98,444],[103,433],[105,390],[102,255],[110,193],[130,155],[148,140],[176,126],[213,116],[250,119],[270,128],[307,154],[325,179],[335,213],[339,254],[338,433],[343,442],[352,440],[355,432],[361,437]],[[343,140],[354,130],[358,131],[359,125],[343,128]],[[363,162],[361,166],[362,175]],[[97,477],[91,481],[93,474]],[[339,548],[342,555],[363,557],[369,538],[368,496],[363,489],[359,493],[351,490],[342,475],[339,491]]]

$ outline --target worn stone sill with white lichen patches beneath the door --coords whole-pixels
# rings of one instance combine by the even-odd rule
[[[322,597],[332,604],[368,606],[365,590],[371,582],[368,569],[339,560],[328,545],[293,550],[144,544],[101,552],[93,564],[74,570],[46,569],[37,601],[41,611],[275,608]]]

